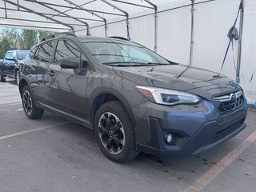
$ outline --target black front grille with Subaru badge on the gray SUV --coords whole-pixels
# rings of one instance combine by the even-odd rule
[[[244,95],[242,90],[234,93],[224,94],[213,98],[215,106],[217,106],[220,114],[229,114],[244,106]]]

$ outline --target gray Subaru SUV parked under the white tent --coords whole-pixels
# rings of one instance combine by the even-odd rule
[[[94,129],[114,162],[140,151],[202,154],[246,127],[237,83],[123,38],[43,38],[21,67],[19,91],[28,118],[50,110]]]

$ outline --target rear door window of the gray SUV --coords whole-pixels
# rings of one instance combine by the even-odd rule
[[[38,47],[34,58],[42,62],[50,62],[50,55],[54,49],[54,42],[46,42]]]

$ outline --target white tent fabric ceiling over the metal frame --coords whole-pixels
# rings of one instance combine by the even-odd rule
[[[2,0],[0,26],[66,31],[107,24],[130,14],[154,13],[154,5],[188,0]]]

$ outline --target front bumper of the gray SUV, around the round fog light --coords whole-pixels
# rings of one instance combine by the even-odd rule
[[[204,154],[242,131],[247,114],[242,108],[222,116],[211,102],[198,105],[161,106],[144,102],[134,107],[137,147],[157,156]],[[173,134],[168,144],[164,137]]]

